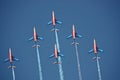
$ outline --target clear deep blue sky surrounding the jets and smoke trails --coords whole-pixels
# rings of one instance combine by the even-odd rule
[[[100,53],[102,80],[120,80],[120,1],[119,0],[0,0],[0,80],[11,80],[8,48],[19,58],[15,62],[16,80],[39,80],[36,49],[34,42],[28,39],[33,35],[36,25],[37,33],[44,38],[40,41],[40,58],[43,80],[60,80],[55,59],[49,59],[53,53],[55,36],[48,25],[51,12],[62,21],[59,43],[64,71],[64,80],[78,80],[75,48],[71,34],[72,25],[83,38],[77,39],[81,72],[83,80],[98,80],[97,65],[92,61],[93,38],[104,50]]]

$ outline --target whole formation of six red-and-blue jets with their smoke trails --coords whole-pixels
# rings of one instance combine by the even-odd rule
[[[62,57],[64,57],[64,55],[61,54],[61,52],[60,52],[60,45],[59,45],[59,39],[58,39],[58,33],[57,33],[59,31],[59,29],[57,29],[57,24],[61,25],[62,22],[56,19],[55,12],[52,11],[52,19],[51,19],[51,21],[48,22],[48,25],[51,25],[53,27],[53,29],[51,29],[51,31],[55,33],[56,42],[54,44],[53,54],[51,54],[49,56],[49,58],[55,58],[55,62],[53,62],[53,64],[58,65],[60,80],[64,80],[63,69],[62,69]],[[75,46],[79,80],[82,80],[82,73],[81,73],[79,53],[78,53],[79,43],[76,41],[76,38],[82,38],[82,37],[83,37],[82,35],[80,35],[76,32],[75,25],[73,24],[71,35],[69,35],[67,37],[67,39],[72,38],[72,40],[73,40],[72,45]],[[39,55],[40,54],[39,53],[39,47],[40,47],[39,41],[40,40],[43,40],[43,37],[41,37],[37,34],[36,26],[34,26],[33,27],[33,36],[31,38],[29,38],[28,41],[33,41],[34,42],[34,45],[32,47],[36,49],[36,53],[37,53],[39,79],[43,80],[42,67],[41,67],[41,61],[40,61],[40,55]],[[98,56],[99,52],[103,52],[103,50],[100,49],[97,46],[96,39],[93,39],[93,49],[88,51],[88,53],[94,53],[94,55],[95,55],[95,57],[93,57],[93,60],[95,60],[97,62],[98,80],[101,80],[101,70],[100,70],[100,64],[99,64],[100,57]],[[4,60],[4,62],[9,62],[10,63],[10,66],[8,68],[10,68],[12,70],[13,80],[15,80],[14,68],[16,68],[13,64],[14,61],[19,61],[19,59],[15,58],[13,56],[12,49],[9,48],[9,56],[8,56],[8,58],[6,58]]]

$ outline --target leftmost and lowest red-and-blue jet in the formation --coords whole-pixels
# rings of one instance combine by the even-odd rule
[[[19,61],[19,59],[15,58],[12,55],[11,48],[9,48],[9,56],[7,59],[4,60],[4,62],[10,62],[10,66],[8,68],[15,68],[15,66],[13,65],[13,61]]]

